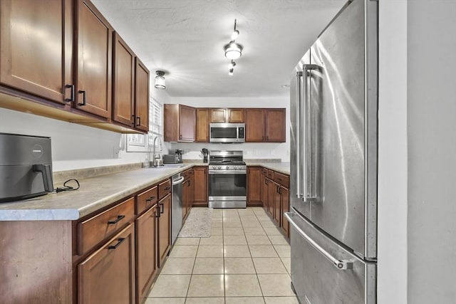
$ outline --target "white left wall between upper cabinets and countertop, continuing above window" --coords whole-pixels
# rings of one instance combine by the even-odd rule
[[[151,95],[167,103],[165,90],[153,88]],[[143,162],[145,152],[126,152],[125,136],[120,133],[53,120],[24,112],[0,108],[0,132],[51,137],[53,171]],[[115,151],[120,151],[115,154]]]

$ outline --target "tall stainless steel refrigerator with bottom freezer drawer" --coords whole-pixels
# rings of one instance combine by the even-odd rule
[[[348,1],[291,76],[291,283],[376,303],[378,1]]]

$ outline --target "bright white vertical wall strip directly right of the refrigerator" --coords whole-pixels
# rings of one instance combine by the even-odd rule
[[[378,303],[407,303],[407,1],[379,1]]]

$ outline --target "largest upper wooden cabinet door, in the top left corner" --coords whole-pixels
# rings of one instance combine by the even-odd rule
[[[0,1],[0,83],[58,103],[71,98],[71,3]]]

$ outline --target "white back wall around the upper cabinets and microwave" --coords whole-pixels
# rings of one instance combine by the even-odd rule
[[[289,97],[276,98],[171,98],[170,103],[180,103],[199,108],[286,108],[286,142],[284,143],[244,143],[244,144],[209,144],[209,143],[167,143],[172,151],[184,150],[184,159],[202,159],[202,148],[209,150],[242,150],[245,159],[290,159],[290,111]]]

